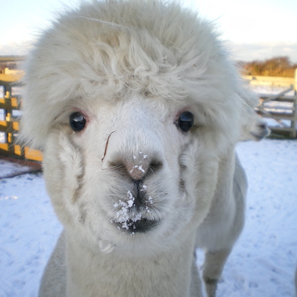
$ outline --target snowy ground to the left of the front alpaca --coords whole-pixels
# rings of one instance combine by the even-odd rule
[[[1,165],[1,171],[5,170]],[[36,297],[61,226],[41,174],[0,180],[0,297]]]

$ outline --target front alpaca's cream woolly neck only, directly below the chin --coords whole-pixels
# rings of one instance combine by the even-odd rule
[[[108,254],[66,237],[67,297],[188,297],[193,240],[151,257]]]

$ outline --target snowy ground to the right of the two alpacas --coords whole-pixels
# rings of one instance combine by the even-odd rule
[[[293,297],[297,265],[297,141],[238,146],[249,181],[246,225],[218,296]]]

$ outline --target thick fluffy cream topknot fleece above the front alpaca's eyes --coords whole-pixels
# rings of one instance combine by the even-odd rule
[[[212,25],[177,4],[85,3],[61,15],[36,46],[24,77],[22,127],[35,147],[43,148],[57,113],[127,92],[195,104],[201,124],[228,142],[245,120],[242,82]]]

